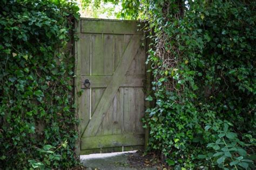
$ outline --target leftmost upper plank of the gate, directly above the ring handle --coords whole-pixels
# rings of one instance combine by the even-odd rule
[[[91,69],[91,34],[81,34],[80,36],[80,62],[81,74],[90,75]]]

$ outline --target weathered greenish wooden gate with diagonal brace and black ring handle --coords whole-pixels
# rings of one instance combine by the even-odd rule
[[[127,151],[144,145],[146,42],[139,24],[86,18],[78,23],[80,154]]]

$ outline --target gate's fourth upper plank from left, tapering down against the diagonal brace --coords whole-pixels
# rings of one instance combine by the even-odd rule
[[[114,35],[114,69],[117,68],[118,62],[123,55],[126,44],[124,44],[124,35]]]

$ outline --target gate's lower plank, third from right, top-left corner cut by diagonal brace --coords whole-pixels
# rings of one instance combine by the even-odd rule
[[[121,134],[123,131],[124,116],[124,88],[120,87],[113,100],[113,134]]]

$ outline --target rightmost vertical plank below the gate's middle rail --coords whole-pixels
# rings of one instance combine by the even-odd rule
[[[136,134],[144,134],[142,118],[145,113],[145,95],[142,87],[135,88],[135,114],[134,114],[134,124]]]

